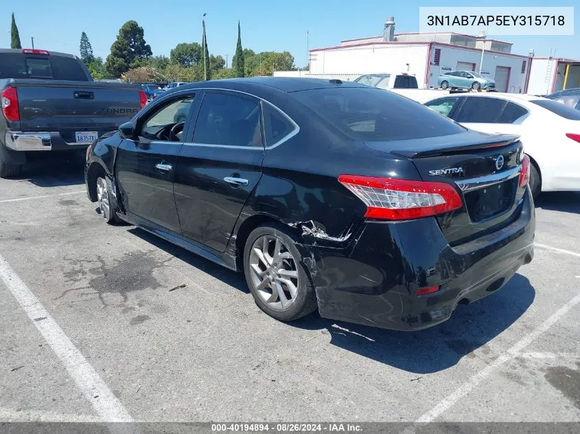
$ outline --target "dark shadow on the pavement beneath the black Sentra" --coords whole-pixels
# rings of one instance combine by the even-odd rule
[[[145,230],[130,228],[128,232],[231,287],[250,292],[242,273],[212,263]],[[384,330],[327,320],[316,312],[286,326],[324,331],[329,333],[330,344],[334,346],[400,370],[430,374],[452,367],[463,357],[494,357],[487,343],[516,322],[534,298],[535,290],[529,280],[515,274],[498,292],[473,304],[460,304],[448,321],[426,330]],[[248,298],[248,303],[251,302]]]

